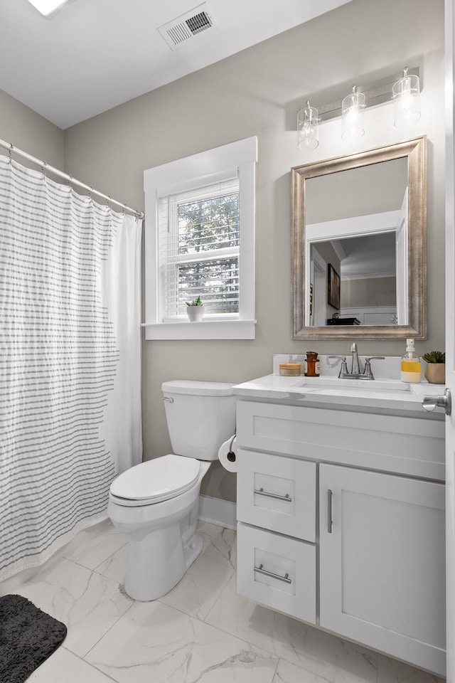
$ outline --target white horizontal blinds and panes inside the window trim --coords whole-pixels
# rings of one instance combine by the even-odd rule
[[[239,313],[240,193],[237,178],[158,200],[160,318],[186,316],[200,297],[205,317]]]

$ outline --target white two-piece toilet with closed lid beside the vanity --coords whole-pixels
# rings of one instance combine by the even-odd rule
[[[110,487],[107,512],[129,539],[124,588],[156,600],[176,586],[203,548],[197,533],[200,482],[235,433],[232,384],[164,382],[173,452],[141,462]]]

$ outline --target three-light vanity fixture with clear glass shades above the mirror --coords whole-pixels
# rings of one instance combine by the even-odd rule
[[[319,145],[319,125],[338,117],[342,119],[343,140],[360,139],[365,133],[365,109],[385,102],[394,102],[396,127],[412,125],[419,120],[422,81],[418,67],[405,68],[400,73],[386,76],[369,85],[360,85],[362,80],[359,77],[359,83],[353,85],[352,92],[346,97],[341,95],[343,90],[346,93],[345,85],[343,90],[338,90],[341,95],[338,95],[339,99],[327,104],[318,103],[317,108],[310,107],[306,100],[306,106],[297,114],[297,147],[301,152],[316,149]],[[311,97],[317,102],[317,94],[314,93]]]

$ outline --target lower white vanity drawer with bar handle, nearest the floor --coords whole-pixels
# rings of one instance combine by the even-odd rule
[[[237,591],[316,623],[316,546],[237,524]]]

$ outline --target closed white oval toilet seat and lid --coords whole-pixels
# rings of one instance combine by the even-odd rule
[[[188,491],[199,476],[200,463],[181,455],[163,455],[141,462],[119,475],[111,484],[110,497],[119,505],[159,503]]]

